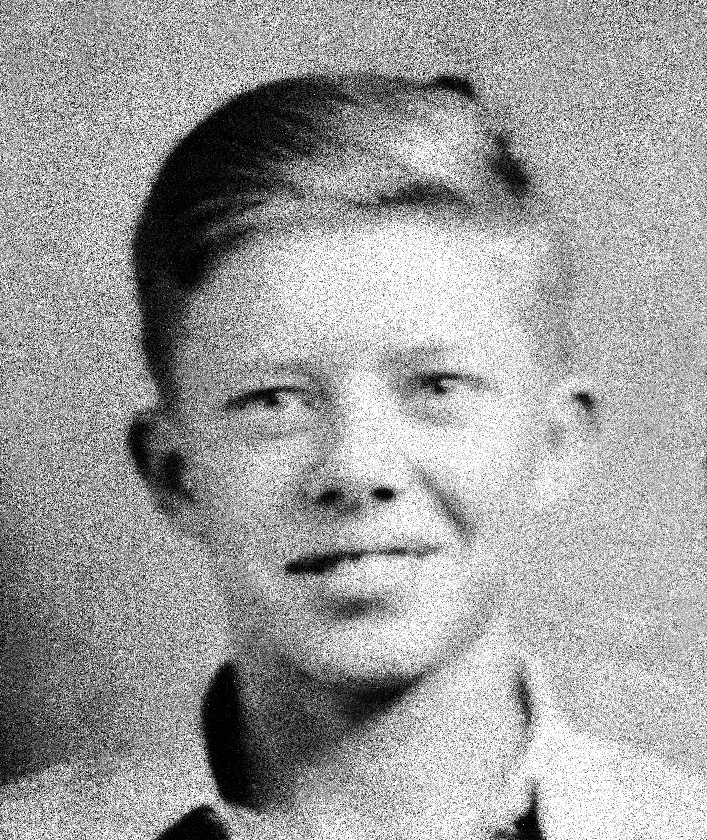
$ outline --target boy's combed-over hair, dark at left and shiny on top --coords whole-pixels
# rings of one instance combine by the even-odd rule
[[[188,297],[219,256],[269,225],[395,205],[551,229],[557,270],[536,282],[532,320],[567,355],[570,274],[557,223],[471,83],[296,76],[242,92],[198,123],[145,199],[132,249],[145,361],[161,397]]]

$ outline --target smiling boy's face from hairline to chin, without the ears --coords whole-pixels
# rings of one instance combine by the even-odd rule
[[[169,423],[237,658],[389,685],[483,634],[547,447],[515,312],[534,270],[532,243],[412,213],[258,234],[214,268]]]

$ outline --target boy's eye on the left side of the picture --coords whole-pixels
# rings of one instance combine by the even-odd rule
[[[224,412],[235,418],[245,430],[269,435],[288,432],[309,424],[314,398],[303,388],[257,388],[230,397]]]

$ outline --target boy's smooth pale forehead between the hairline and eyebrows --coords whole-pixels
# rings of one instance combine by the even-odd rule
[[[203,356],[525,353],[530,235],[418,213],[360,213],[253,234],[194,294],[186,344]]]

